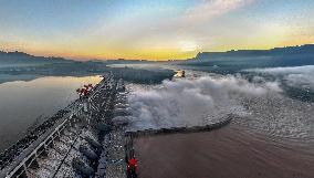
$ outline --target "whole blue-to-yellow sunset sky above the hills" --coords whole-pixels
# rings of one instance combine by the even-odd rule
[[[0,7],[0,49],[76,60],[184,60],[201,51],[314,43],[314,1],[18,1]]]

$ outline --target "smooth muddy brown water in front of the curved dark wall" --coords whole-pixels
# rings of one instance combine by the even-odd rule
[[[313,178],[313,140],[290,140],[234,124],[134,140],[142,178]]]

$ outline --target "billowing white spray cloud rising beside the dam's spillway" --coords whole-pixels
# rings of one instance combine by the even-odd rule
[[[193,126],[214,123],[228,114],[245,115],[234,96],[262,97],[278,92],[276,83],[253,84],[241,76],[202,76],[165,81],[154,88],[134,87],[129,104],[132,129]]]

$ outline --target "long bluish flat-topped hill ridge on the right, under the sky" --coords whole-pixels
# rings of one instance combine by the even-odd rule
[[[203,67],[214,72],[237,72],[250,67],[314,65],[314,44],[275,48],[271,50],[231,50],[201,52],[180,65]]]

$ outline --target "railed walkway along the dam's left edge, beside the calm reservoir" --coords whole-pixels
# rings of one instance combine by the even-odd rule
[[[92,91],[88,98],[74,101],[66,108],[57,112],[24,138],[0,154],[0,178],[31,177],[28,169],[38,165],[38,158],[46,155],[64,133],[77,123],[91,123],[87,102],[101,90],[114,86],[113,76],[106,75]]]

